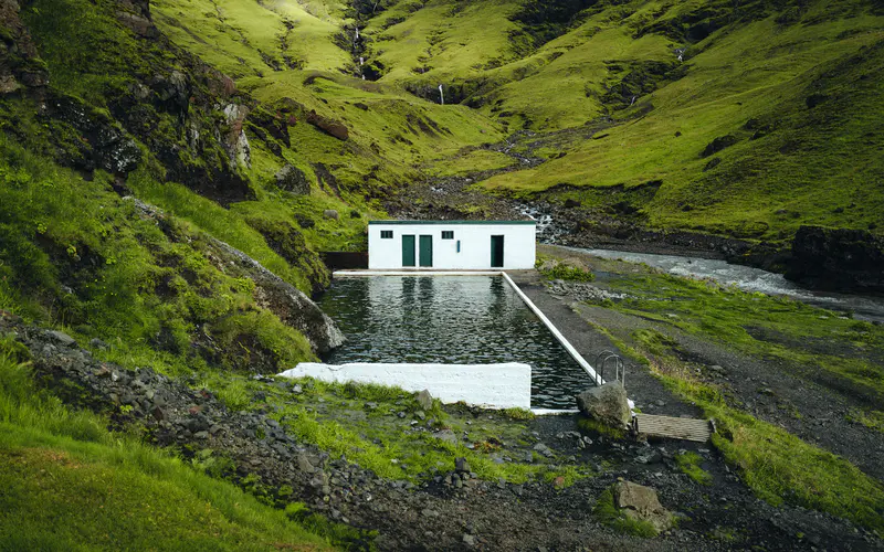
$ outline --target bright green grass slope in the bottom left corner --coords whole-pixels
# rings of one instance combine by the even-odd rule
[[[0,550],[326,550],[231,484],[110,434],[0,348]]]

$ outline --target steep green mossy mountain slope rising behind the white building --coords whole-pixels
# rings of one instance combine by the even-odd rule
[[[265,100],[345,120],[382,166],[422,168],[401,173],[411,181],[475,172],[506,197],[580,202],[570,217],[602,233],[615,214],[615,225],[785,245],[803,224],[884,223],[874,2],[156,6],[179,43]],[[548,161],[514,170],[470,153],[490,151],[495,129],[529,130],[509,152]]]

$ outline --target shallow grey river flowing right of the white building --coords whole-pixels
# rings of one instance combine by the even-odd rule
[[[725,261],[655,255],[610,250],[581,250],[566,247],[602,258],[621,258],[632,263],[644,263],[678,276],[712,278],[723,284],[733,284],[747,291],[768,295],[787,295],[803,302],[839,311],[853,311],[861,320],[884,321],[884,297],[830,291],[811,291],[789,282],[781,274],[769,273],[750,266],[732,265]]]

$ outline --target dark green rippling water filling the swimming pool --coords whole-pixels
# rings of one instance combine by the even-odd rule
[[[338,278],[319,300],[347,337],[323,360],[532,367],[532,406],[573,407],[590,378],[499,276]]]

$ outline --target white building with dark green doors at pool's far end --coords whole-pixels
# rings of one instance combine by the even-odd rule
[[[534,268],[535,234],[534,221],[370,221],[368,267]]]

